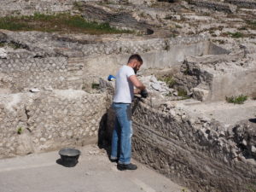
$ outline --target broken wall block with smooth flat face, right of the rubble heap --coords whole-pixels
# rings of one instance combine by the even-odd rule
[[[174,75],[176,88],[200,101],[224,101],[225,96],[253,96],[255,62],[245,52],[189,57]]]

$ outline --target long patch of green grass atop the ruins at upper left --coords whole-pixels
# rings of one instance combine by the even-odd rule
[[[35,13],[31,16],[6,16],[0,18],[0,28],[10,31],[73,32],[88,34],[131,33],[119,30],[108,23],[84,20],[80,15]]]

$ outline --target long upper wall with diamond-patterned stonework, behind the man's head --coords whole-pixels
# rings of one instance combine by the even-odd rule
[[[32,88],[81,90],[90,87],[99,78],[106,79],[108,74],[115,74],[134,53],[143,56],[143,69],[174,67],[188,56],[213,53],[204,35],[132,41],[120,39],[92,44],[87,42],[90,37],[86,36],[81,39],[83,37],[67,38],[45,32],[2,34],[0,42],[20,44],[20,49],[4,48],[7,56],[0,59],[2,93]],[[91,36],[93,38],[96,37]]]

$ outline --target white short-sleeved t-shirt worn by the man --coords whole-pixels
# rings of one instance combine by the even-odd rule
[[[131,103],[134,96],[133,84],[129,77],[135,75],[132,67],[123,66],[116,74],[113,102]]]

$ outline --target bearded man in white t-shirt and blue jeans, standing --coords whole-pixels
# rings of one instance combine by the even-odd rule
[[[119,170],[136,170],[131,164],[131,102],[135,93],[141,92],[143,97],[148,96],[146,87],[137,79],[136,73],[143,65],[140,55],[131,55],[127,65],[121,67],[116,74],[113,109],[116,114],[112,137],[111,161],[118,161]]]

